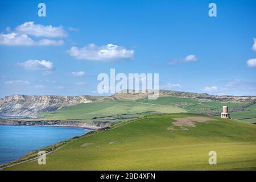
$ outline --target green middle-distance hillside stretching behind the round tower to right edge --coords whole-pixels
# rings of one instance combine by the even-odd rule
[[[51,113],[42,113],[44,119],[92,119],[100,117],[119,118],[140,116],[145,113],[199,113],[220,115],[222,106],[229,106],[231,117],[247,122],[256,122],[256,104],[250,102],[220,102],[199,98],[174,96],[159,97],[157,100],[139,98],[135,101],[104,101],[65,107]],[[108,118],[105,118],[108,119]],[[113,120],[114,121],[114,120]],[[117,121],[120,121],[117,120]]]

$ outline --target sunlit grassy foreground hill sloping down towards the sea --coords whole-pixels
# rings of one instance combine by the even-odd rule
[[[47,155],[47,165],[30,162],[7,169],[256,169],[255,125],[219,119],[197,123],[187,131],[167,130],[173,117],[188,116],[195,114],[123,122]],[[84,143],[92,144],[81,147]],[[217,165],[208,164],[211,150],[217,152]]]

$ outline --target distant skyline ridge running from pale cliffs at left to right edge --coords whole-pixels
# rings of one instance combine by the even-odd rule
[[[63,107],[89,102],[105,102],[114,100],[134,101],[147,98],[152,90],[146,93],[134,93],[134,90],[122,90],[112,96],[26,96],[15,94],[0,99],[0,115],[38,117],[40,112],[49,112]],[[209,100],[216,102],[249,102],[255,103],[256,96],[213,96],[206,93],[191,93],[171,90],[159,90],[159,97],[172,96]]]

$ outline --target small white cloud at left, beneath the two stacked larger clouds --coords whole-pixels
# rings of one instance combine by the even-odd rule
[[[28,70],[44,70],[51,71],[53,69],[53,63],[51,61],[46,60],[27,60],[23,63],[18,63],[18,65],[24,69]]]

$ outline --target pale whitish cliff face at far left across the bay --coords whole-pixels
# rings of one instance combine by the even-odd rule
[[[38,117],[38,113],[92,102],[86,96],[24,96],[13,95],[0,99],[0,115]]]

